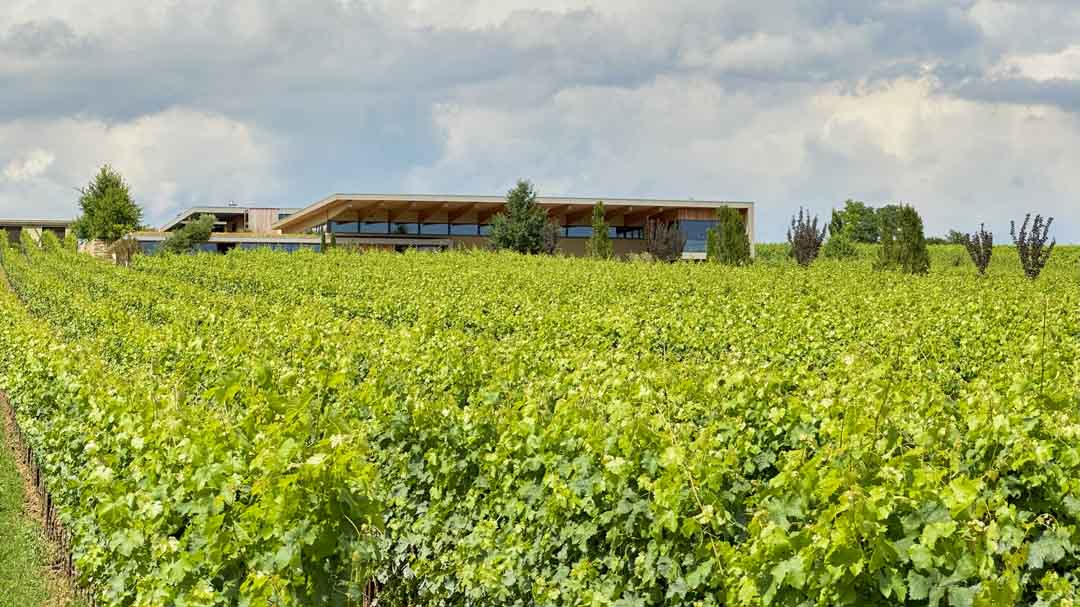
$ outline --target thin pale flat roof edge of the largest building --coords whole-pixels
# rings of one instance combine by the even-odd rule
[[[720,206],[734,206],[737,208],[750,208],[754,206],[750,201],[721,201],[721,200],[675,200],[675,199],[647,199],[647,198],[606,198],[606,197],[537,197],[537,204],[540,206],[592,206],[597,201],[603,201],[605,206],[654,206],[669,208],[718,208]],[[330,208],[342,203],[357,204],[446,204],[446,205],[485,205],[495,206],[505,204],[505,197],[500,195],[457,195],[457,194],[379,194],[379,193],[335,193],[319,202],[303,207],[293,213],[288,217],[275,222],[272,228],[287,230],[289,226],[303,225],[318,217],[320,213],[328,213]]]

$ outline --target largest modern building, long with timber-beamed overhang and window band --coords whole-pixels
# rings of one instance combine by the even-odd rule
[[[716,212],[737,208],[746,219],[754,251],[754,203],[698,200],[593,199],[538,197],[538,205],[561,228],[558,248],[584,255],[592,235],[593,205],[603,200],[615,253],[645,251],[649,221],[676,222],[687,235],[685,258],[704,258]],[[333,232],[339,244],[376,248],[485,246],[491,218],[505,207],[502,197],[334,194],[273,224],[281,233]]]

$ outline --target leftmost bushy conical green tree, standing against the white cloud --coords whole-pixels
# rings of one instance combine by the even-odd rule
[[[82,240],[120,240],[135,231],[143,219],[143,210],[132,201],[124,178],[108,164],[80,190],[80,194],[82,213],[73,228]]]

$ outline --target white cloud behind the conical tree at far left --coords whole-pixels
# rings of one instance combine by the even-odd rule
[[[274,137],[187,109],[122,123],[85,118],[10,122],[0,124],[0,148],[26,150],[0,180],[0,208],[16,216],[72,215],[77,189],[103,164],[124,175],[151,220],[193,204],[269,200],[281,187]]]

